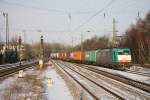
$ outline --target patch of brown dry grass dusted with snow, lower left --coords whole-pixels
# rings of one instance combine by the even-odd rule
[[[38,78],[35,67],[23,72],[23,77],[19,78],[14,74],[0,81],[0,100],[37,100],[44,98],[42,81]],[[40,99],[41,100],[41,99]]]

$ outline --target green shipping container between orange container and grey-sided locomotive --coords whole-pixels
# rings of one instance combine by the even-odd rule
[[[99,50],[85,52],[85,60],[90,62],[96,62],[96,54]]]

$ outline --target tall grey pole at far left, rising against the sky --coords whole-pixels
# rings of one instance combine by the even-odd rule
[[[8,24],[8,13],[3,13],[6,17],[6,49],[9,48],[9,24]]]

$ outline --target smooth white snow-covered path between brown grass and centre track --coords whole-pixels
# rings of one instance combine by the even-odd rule
[[[43,76],[48,100],[73,100],[64,80],[56,73],[53,66],[48,66]]]

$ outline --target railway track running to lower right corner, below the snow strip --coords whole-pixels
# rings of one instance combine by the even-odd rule
[[[95,84],[101,85],[101,88],[103,88],[105,91],[109,92],[111,95],[114,95],[118,99],[129,99],[129,100],[149,100],[150,99],[150,93],[148,91],[144,91],[141,88],[138,88],[131,85],[130,83],[127,84],[126,82],[122,80],[116,80],[112,77],[108,77],[107,75],[103,75],[101,73],[95,72],[94,70],[90,70],[90,68],[79,66],[76,64],[68,63],[68,62],[62,62],[57,61],[57,63],[60,63],[60,66],[66,66],[68,69],[78,73],[80,76],[90,79],[91,82],[95,82]],[[91,68],[93,69],[93,67]],[[98,70],[98,69],[96,69]],[[107,73],[108,74],[108,73]],[[123,78],[123,77],[122,77]],[[95,80],[94,80],[95,79]],[[106,81],[106,82],[102,82]],[[111,85],[106,85],[108,83]],[[136,84],[135,84],[136,85]],[[106,87],[105,87],[106,86]],[[118,95],[118,97],[117,97]]]

